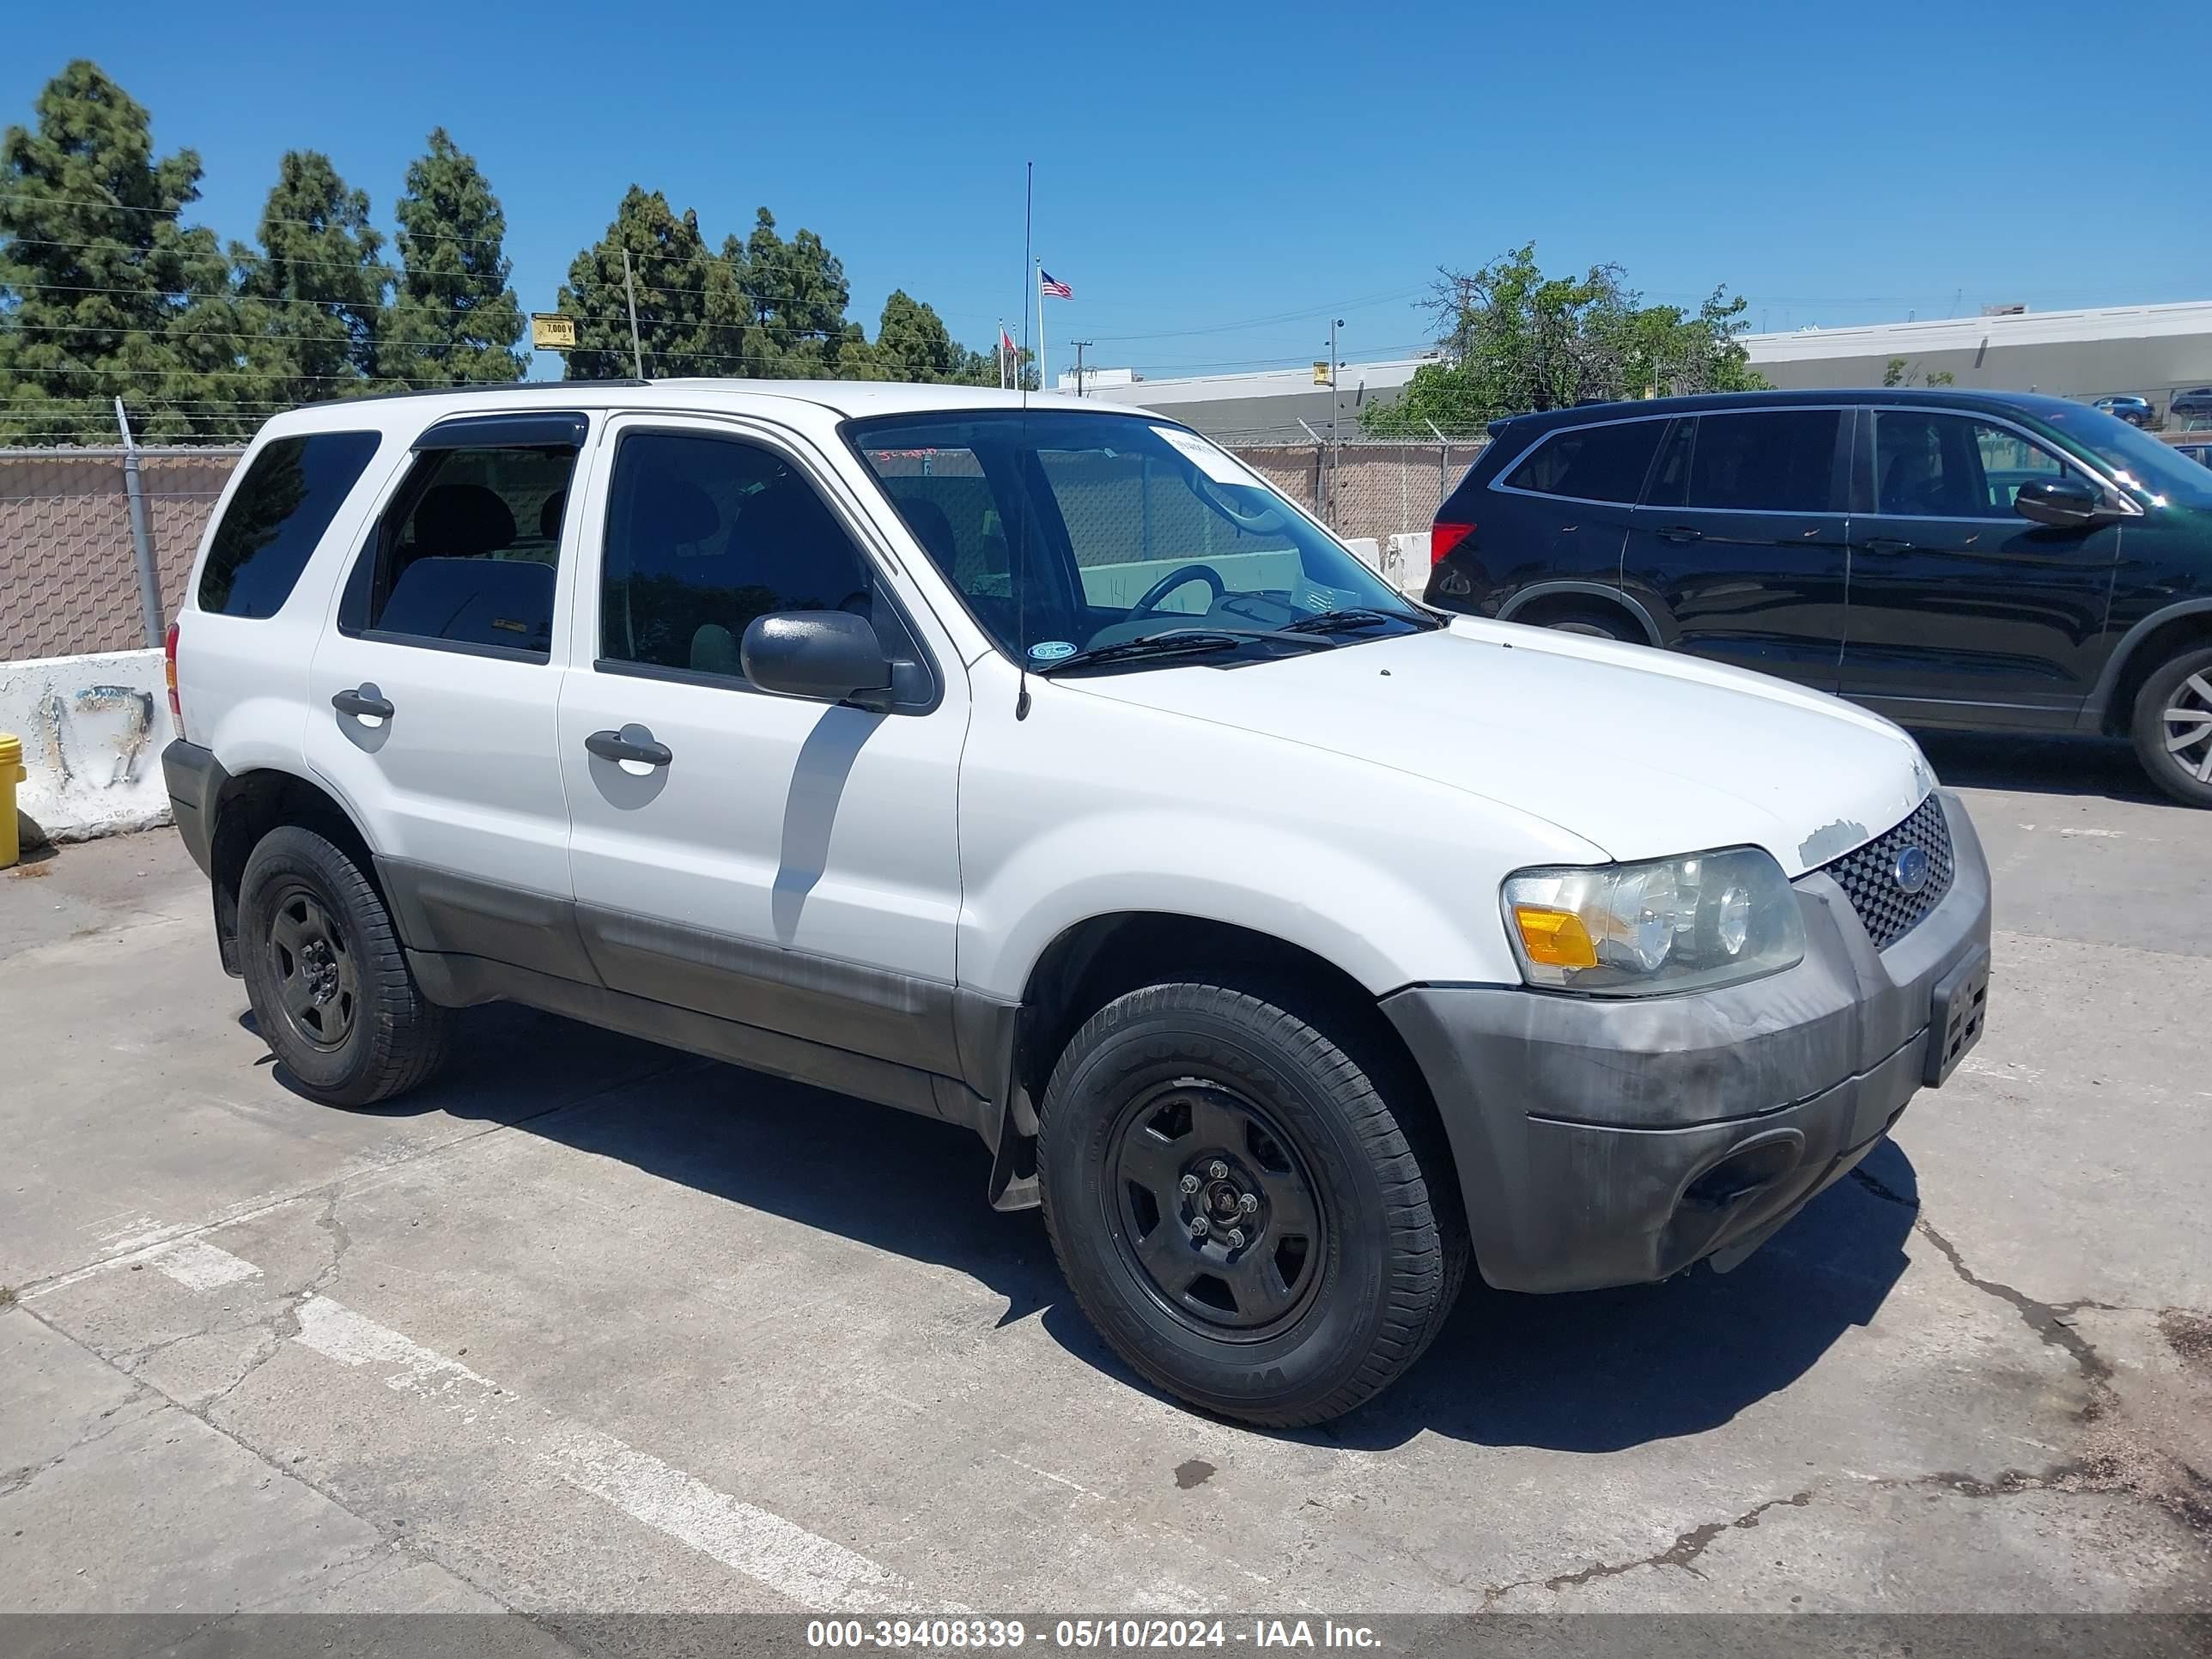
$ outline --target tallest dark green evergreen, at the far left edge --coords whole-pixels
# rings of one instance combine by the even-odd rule
[[[146,108],[82,58],[33,111],[0,137],[0,436],[113,440],[115,398],[146,438],[199,431],[237,347],[201,338],[228,272],[179,223],[199,157],[155,157]]]

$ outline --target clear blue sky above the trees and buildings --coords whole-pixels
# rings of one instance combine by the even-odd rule
[[[285,148],[392,199],[434,124],[507,206],[551,307],[622,190],[757,206],[971,345],[1020,334],[1022,164],[1051,356],[1150,374],[1425,341],[1438,263],[1533,239],[1754,327],[2212,296],[2203,7],[484,4],[18,0],[0,122],[88,55],[252,237]],[[498,20],[489,20],[498,15]],[[549,369],[540,369],[549,372]]]

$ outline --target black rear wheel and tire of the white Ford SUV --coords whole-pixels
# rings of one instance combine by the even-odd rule
[[[451,1015],[416,984],[369,878],[312,830],[270,830],[246,860],[239,964],[263,1042],[310,1099],[374,1106],[445,1062]]]

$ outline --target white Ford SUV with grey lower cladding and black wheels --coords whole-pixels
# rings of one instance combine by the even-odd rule
[[[1146,1378],[1347,1411],[1469,1256],[1732,1265],[1982,1029],[1887,721],[1400,599],[1197,434],[945,387],[272,420],[177,827],[299,1088],[507,998],[973,1128]]]

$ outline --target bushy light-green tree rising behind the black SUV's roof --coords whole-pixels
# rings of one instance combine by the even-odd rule
[[[1413,372],[1394,403],[1360,411],[1374,434],[1469,431],[1504,414],[1562,409],[1584,398],[1674,392],[1747,392],[1752,372],[1736,338],[1743,299],[1714,290],[1688,314],[1646,305],[1619,265],[1546,276],[1535,243],[1475,272],[1440,272],[1429,299],[1436,363]]]

